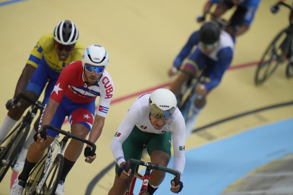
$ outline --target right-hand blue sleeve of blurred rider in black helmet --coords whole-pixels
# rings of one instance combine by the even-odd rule
[[[207,74],[205,74],[205,76],[209,78],[209,82],[206,82],[208,91],[212,90],[220,83],[224,72],[228,69],[233,59],[233,51],[230,47],[224,48],[219,51],[217,57],[219,61],[207,71]]]

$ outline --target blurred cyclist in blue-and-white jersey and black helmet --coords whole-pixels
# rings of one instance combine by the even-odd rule
[[[197,46],[195,51],[190,54],[192,48]],[[183,83],[190,78],[190,74],[198,75],[203,71],[204,82],[197,85],[196,98],[193,105],[193,114],[186,121],[187,138],[194,126],[198,113],[206,104],[207,94],[221,81],[226,69],[230,66],[234,53],[234,43],[231,36],[221,30],[218,23],[209,21],[202,25],[199,31],[191,34],[185,46],[175,58],[173,67],[169,69],[169,75],[174,75],[183,63],[183,60],[190,55],[183,66],[183,71],[171,84],[170,90],[178,95]],[[190,73],[190,74],[188,74]]]

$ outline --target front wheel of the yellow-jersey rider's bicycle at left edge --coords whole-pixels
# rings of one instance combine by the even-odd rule
[[[29,124],[22,124],[16,129],[13,129],[14,133],[9,133],[9,137],[5,140],[9,141],[6,147],[1,148],[0,159],[0,182],[8,171],[9,167],[14,163],[16,155],[20,152],[27,138],[30,130]]]

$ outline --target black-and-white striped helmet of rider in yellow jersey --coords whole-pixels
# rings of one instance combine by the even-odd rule
[[[69,20],[58,23],[53,32],[54,40],[63,45],[71,45],[78,40],[78,28]]]

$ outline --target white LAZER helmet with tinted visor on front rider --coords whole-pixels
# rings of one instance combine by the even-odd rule
[[[157,89],[150,94],[149,110],[155,118],[169,119],[175,112],[177,100],[172,91]]]

